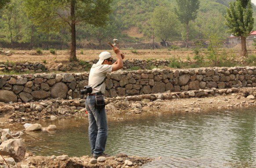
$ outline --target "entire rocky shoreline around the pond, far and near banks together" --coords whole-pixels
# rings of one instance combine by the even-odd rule
[[[179,92],[167,91],[158,94],[107,98],[106,109],[108,118],[113,113],[134,115],[140,115],[140,113],[150,115],[150,113],[158,112],[200,113],[213,109],[224,110],[256,106],[255,96],[256,88],[250,87],[230,89],[212,88]],[[0,124],[4,125],[10,122],[26,123],[39,119],[56,119],[58,117],[85,116],[85,108],[77,110],[77,107],[81,107],[81,104],[84,102],[84,99],[49,99],[39,102],[1,104],[0,110],[2,111],[2,116]],[[27,109],[33,110],[28,111]],[[112,117],[112,120],[117,119]],[[92,159],[91,156],[35,156],[33,153],[26,151],[24,142],[20,139],[24,131],[29,131],[29,129],[26,128],[26,130],[17,132],[11,132],[10,129],[0,130],[2,143],[0,145],[0,154],[9,155],[4,156],[4,158],[10,168],[136,168],[154,160],[153,158],[127,156],[126,154],[100,157],[98,160]],[[15,145],[20,147],[14,147]],[[13,147],[7,149],[3,146]],[[0,166],[8,168],[5,161],[0,158]]]

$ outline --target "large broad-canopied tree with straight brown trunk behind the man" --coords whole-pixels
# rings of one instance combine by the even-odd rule
[[[76,25],[102,26],[108,20],[112,0],[25,0],[26,13],[37,25],[46,21],[56,27],[69,26],[71,33],[70,61],[76,57]]]

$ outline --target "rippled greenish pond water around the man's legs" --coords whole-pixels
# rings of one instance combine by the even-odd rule
[[[256,167],[256,108],[108,117],[106,153],[161,157],[144,168]],[[23,135],[29,151],[45,156],[90,155],[86,117],[40,124],[55,124],[58,130]]]

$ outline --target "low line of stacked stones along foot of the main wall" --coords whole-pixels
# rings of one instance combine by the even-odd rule
[[[241,92],[239,88],[228,88],[228,89],[200,89],[196,91],[179,91],[171,92],[166,91],[164,93],[156,94],[146,94],[146,95],[133,95],[133,96],[123,96],[115,98],[106,98],[106,109],[107,110],[116,110],[116,108],[127,109],[131,107],[133,110],[135,108],[142,109],[143,106],[146,106],[148,102],[159,101],[159,100],[170,100],[170,99],[183,99],[191,97],[212,97],[218,95],[229,95],[232,93]],[[238,98],[240,99],[240,98]],[[255,99],[253,95],[248,96],[247,99]],[[49,114],[55,114],[57,116],[71,116],[76,112],[85,112],[85,99],[51,99],[44,100],[40,102],[27,102],[27,103],[11,103],[0,105],[1,113],[15,113],[9,119],[9,122],[23,122],[29,120],[39,120],[44,118],[49,118]],[[139,103],[139,104],[138,104]],[[254,103],[254,102],[249,102]],[[246,105],[245,102],[242,103]],[[38,112],[33,113],[31,112]],[[26,117],[24,113],[28,114]],[[55,116],[51,116],[51,118]]]

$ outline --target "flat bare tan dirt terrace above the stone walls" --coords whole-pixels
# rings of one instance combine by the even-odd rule
[[[9,49],[4,49],[3,51],[8,51]],[[103,50],[77,50],[77,58],[79,60],[94,60],[97,59],[99,54]],[[113,51],[108,50],[113,55]],[[43,54],[38,55],[36,51],[24,51],[24,50],[11,50],[13,53],[11,56],[0,55],[0,62],[43,62],[46,60],[47,64],[58,62],[69,61],[69,51],[67,50],[58,50],[56,54],[51,54],[50,51],[42,51]],[[194,53],[192,49],[187,51],[176,50],[168,51],[168,49],[156,49],[156,50],[122,50],[125,54],[126,59],[170,59],[172,57],[180,58],[186,60],[188,57],[193,59]],[[240,57],[240,51],[234,49],[227,49],[227,53]],[[256,50],[249,51],[249,54],[256,54]]]

